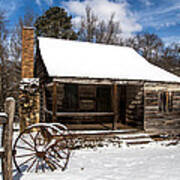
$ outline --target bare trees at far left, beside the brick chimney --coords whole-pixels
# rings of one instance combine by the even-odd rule
[[[27,11],[23,18],[19,18],[12,32],[7,39],[7,32],[4,32],[3,50],[1,57],[1,105],[7,96],[12,96],[18,99],[19,82],[21,79],[21,34],[23,26],[33,26],[34,15]],[[5,36],[6,35],[6,36]],[[2,39],[2,37],[1,37]],[[8,42],[8,43],[7,43]]]

